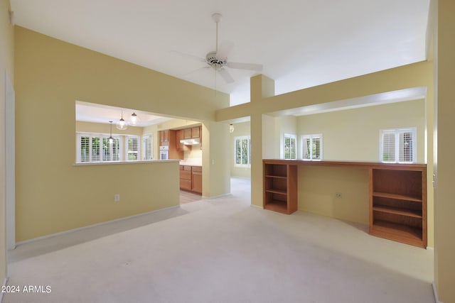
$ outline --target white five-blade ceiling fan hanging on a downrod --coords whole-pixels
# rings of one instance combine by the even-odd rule
[[[205,55],[205,58],[189,55],[186,53],[181,53],[178,51],[173,51],[173,53],[178,53],[180,55],[192,57],[193,59],[199,60],[200,62],[205,62],[205,64],[207,64],[208,66],[201,67],[198,70],[213,68],[213,70],[215,70],[215,72],[218,73],[218,75],[220,75],[226,83],[234,82],[234,78],[232,78],[232,76],[228,72],[227,67],[239,70],[254,70],[255,72],[261,72],[262,71],[261,64],[228,61],[228,54],[230,53],[230,50],[232,50],[232,47],[234,46],[232,42],[223,41],[220,45],[220,48],[218,48],[218,23],[220,23],[222,17],[223,16],[221,16],[220,13],[213,13],[212,15],[212,19],[216,23],[216,45],[215,50],[207,53],[207,55]],[[188,76],[198,70],[193,70],[192,72],[189,72],[185,76]]]

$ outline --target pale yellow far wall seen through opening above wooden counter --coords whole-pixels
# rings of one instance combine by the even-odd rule
[[[425,102],[423,99],[359,109],[300,116],[300,136],[322,133],[323,160],[380,160],[380,130],[417,128],[417,162],[424,162]]]

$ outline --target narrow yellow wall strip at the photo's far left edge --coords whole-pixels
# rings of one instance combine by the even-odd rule
[[[9,23],[9,0],[0,0],[0,285],[7,274],[5,206],[5,75],[14,85],[14,30]]]

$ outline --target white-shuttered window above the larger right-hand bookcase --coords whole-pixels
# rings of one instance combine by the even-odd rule
[[[380,161],[412,163],[415,150],[416,128],[385,129],[380,131]]]

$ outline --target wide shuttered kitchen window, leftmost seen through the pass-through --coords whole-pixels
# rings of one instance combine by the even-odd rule
[[[120,138],[92,133],[77,134],[77,162],[111,162],[120,160]]]

